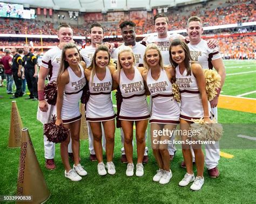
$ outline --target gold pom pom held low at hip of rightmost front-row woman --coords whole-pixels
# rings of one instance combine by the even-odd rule
[[[213,123],[205,123],[203,118],[192,119],[191,130],[196,130],[197,135],[194,138],[201,141],[219,141],[223,135],[223,126],[212,120]]]

